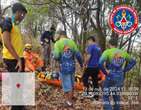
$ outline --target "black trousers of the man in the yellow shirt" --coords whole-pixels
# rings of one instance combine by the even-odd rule
[[[17,65],[17,60],[16,59],[3,59],[4,64],[6,66],[6,69],[8,70],[8,72],[18,72],[18,68],[16,69],[16,65]],[[25,60],[24,58],[21,58],[22,61],[22,71],[24,72],[24,68],[25,68]],[[20,106],[12,106],[11,110],[25,110],[24,106],[20,105]]]

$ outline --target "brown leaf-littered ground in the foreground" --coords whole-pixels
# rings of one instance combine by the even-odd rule
[[[73,108],[64,106],[63,91],[61,88],[48,86],[36,82],[36,106],[26,106],[27,110],[103,110],[102,97],[99,102],[82,98],[80,91],[75,91],[77,100]],[[1,96],[0,96],[1,97]],[[125,100],[122,98],[122,100]],[[141,102],[141,101],[140,101]],[[0,110],[9,110],[10,106],[1,106]],[[124,105],[121,110],[141,110],[139,105]]]

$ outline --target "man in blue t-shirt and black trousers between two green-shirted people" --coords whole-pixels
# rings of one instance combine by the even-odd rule
[[[101,56],[101,49],[97,45],[95,37],[90,36],[87,39],[88,46],[86,48],[85,57],[85,71],[83,74],[83,84],[84,84],[84,94],[83,96],[89,96],[89,77],[92,78],[93,82],[93,92],[96,92],[99,88],[98,86],[98,62]],[[98,100],[98,95],[93,96],[94,99]]]

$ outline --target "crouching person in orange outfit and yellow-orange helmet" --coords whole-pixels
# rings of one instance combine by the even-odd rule
[[[25,49],[23,53],[25,59],[25,71],[35,71],[37,69],[42,69],[44,66],[43,60],[38,54],[32,52],[32,45],[25,44]]]

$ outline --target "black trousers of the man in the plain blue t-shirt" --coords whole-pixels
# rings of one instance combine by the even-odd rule
[[[92,78],[93,82],[93,90],[94,92],[98,90],[99,85],[98,85],[98,73],[99,73],[99,68],[86,68],[83,74],[83,84],[86,88],[89,88],[89,77]]]

